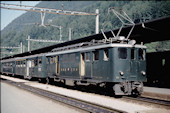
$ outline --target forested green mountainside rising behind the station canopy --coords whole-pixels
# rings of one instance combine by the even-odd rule
[[[42,1],[37,7],[47,7],[64,10],[76,10],[94,13],[99,9],[100,29],[104,31],[117,29],[120,22],[113,13],[108,14],[109,7],[122,8],[135,23],[145,22],[170,15],[170,1]],[[32,23],[41,23],[40,14],[27,12],[1,31],[1,46],[18,46],[20,42],[27,50],[26,38],[59,40],[59,29],[48,26],[40,27]],[[72,29],[72,39],[82,38],[95,33],[95,16],[66,16],[46,14],[46,24],[62,26],[62,40],[68,40],[69,28]],[[31,42],[31,50],[55,43]],[[146,44],[148,52],[170,49],[170,41]],[[7,50],[8,51],[8,50]],[[17,50],[14,50],[17,52]]]

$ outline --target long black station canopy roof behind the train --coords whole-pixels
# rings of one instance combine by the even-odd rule
[[[123,27],[122,31],[120,33],[120,36],[127,36],[131,28],[132,28],[132,26]],[[119,31],[119,29],[113,30],[113,32],[115,34],[117,34],[118,31]],[[129,39],[136,40],[137,43],[143,42],[144,44],[150,43],[150,42],[155,42],[155,41],[165,41],[165,40],[170,40],[169,32],[170,32],[170,16],[167,16],[167,17],[162,17],[162,18],[158,18],[155,20],[147,21],[144,23],[136,24]],[[110,31],[105,32],[105,35],[107,36],[107,38],[113,37],[113,35]],[[87,36],[84,38],[78,38],[78,39],[67,41],[64,43],[59,43],[59,44],[55,44],[52,46],[40,48],[40,49],[33,50],[30,52],[17,54],[14,56],[3,58],[3,59],[45,53],[45,52],[49,52],[52,49],[57,48],[57,47],[63,47],[63,46],[81,43],[81,42],[89,42],[93,39],[101,40],[101,39],[104,39],[104,37],[103,37],[102,33],[99,33],[99,34]]]

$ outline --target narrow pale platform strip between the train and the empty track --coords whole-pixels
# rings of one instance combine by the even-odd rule
[[[46,90],[46,91],[49,91],[52,93],[64,95],[64,96],[75,98],[78,100],[88,101],[90,103],[99,104],[101,106],[106,106],[106,107],[113,108],[113,109],[120,109],[120,110],[126,111],[128,113],[161,113],[161,112],[169,113],[169,110],[165,109],[165,108],[157,108],[152,105],[148,106],[145,104],[139,104],[139,103],[134,103],[134,102],[130,102],[130,101],[127,102],[127,101],[121,100],[119,98],[113,98],[113,97],[98,95],[98,94],[90,94],[90,93],[81,92],[78,90],[71,90],[71,89],[66,89],[66,88],[62,88],[62,87],[58,87],[58,86],[52,86],[49,84],[41,84],[41,83],[33,82],[33,81],[25,81],[25,80],[21,80],[18,78],[12,78],[9,76],[1,75],[0,78],[8,79],[8,80],[15,81],[15,82],[22,82],[23,84],[34,87],[34,88],[43,89],[43,90]],[[3,89],[9,89],[9,88],[3,88]],[[144,88],[144,89],[145,89],[145,91],[147,90],[147,88]],[[16,89],[14,89],[14,91],[16,93],[18,93],[18,91],[16,91]],[[7,92],[4,94],[12,94],[12,93]],[[19,93],[19,94],[23,95],[23,93]],[[23,95],[23,96],[25,96],[25,95]],[[30,99],[30,96],[26,96],[26,97],[29,97],[28,100]],[[9,97],[6,97],[6,98],[9,98]],[[4,99],[5,99],[5,97],[4,97]],[[23,100],[23,99],[20,99],[20,100]],[[31,99],[31,100],[34,100],[34,99]],[[14,104],[15,104],[15,102],[16,101],[14,101]],[[32,103],[32,101],[29,103],[26,103],[25,106],[29,105],[30,103]],[[15,104],[15,105],[18,105],[18,104]],[[38,105],[38,104],[36,104],[36,105]],[[49,105],[51,105],[51,104],[49,104]],[[6,106],[5,103],[4,103],[4,106]],[[3,108],[5,108],[5,107],[3,107]],[[14,107],[14,109],[16,109],[16,107]],[[58,108],[58,109],[60,109],[60,108]],[[65,108],[63,108],[63,109],[65,109]],[[4,111],[5,110],[6,109],[4,109]],[[73,112],[75,112],[75,111],[73,111]]]

